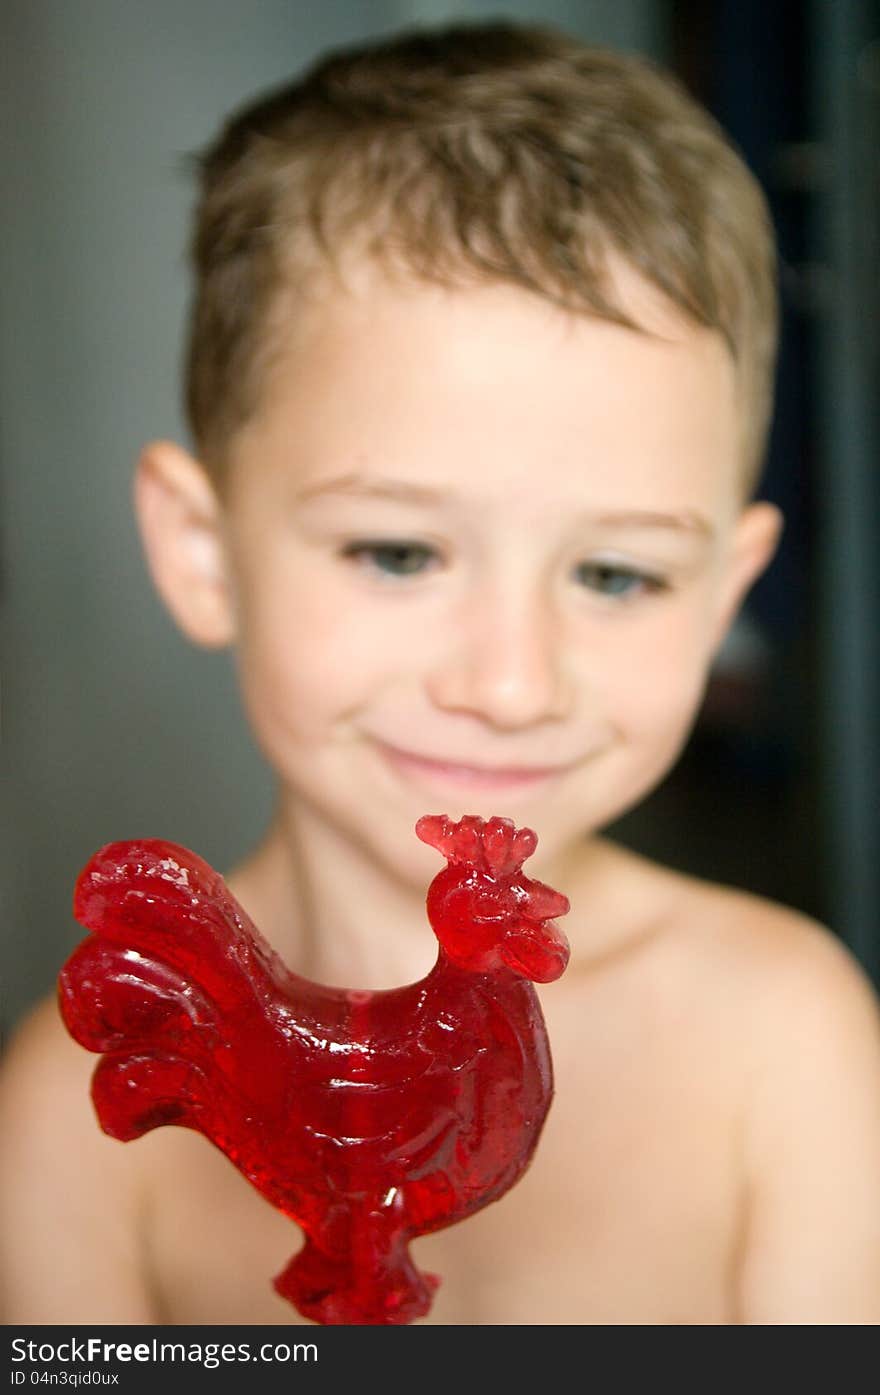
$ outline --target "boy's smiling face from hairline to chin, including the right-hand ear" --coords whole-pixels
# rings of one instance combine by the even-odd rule
[[[364,275],[236,441],[218,536],[257,738],[420,884],[423,813],[527,823],[548,868],[650,791],[775,545],[721,340],[618,275],[655,336]]]

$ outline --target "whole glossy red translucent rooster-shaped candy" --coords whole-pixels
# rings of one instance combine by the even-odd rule
[[[160,840],[84,868],[93,933],[64,965],[68,1031],[100,1052],[105,1133],[197,1129],[305,1244],[276,1278],[318,1322],[423,1317],[438,1283],[409,1242],[495,1201],[527,1168],[552,1096],[530,979],[562,974],[565,896],[522,872],[530,829],[420,819],[448,859],[428,890],[431,972],[386,992],[291,974],[206,862]]]

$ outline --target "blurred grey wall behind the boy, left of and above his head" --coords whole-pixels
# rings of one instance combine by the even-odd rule
[[[0,1024],[81,936],[78,868],[162,836],[227,866],[269,780],[227,658],[153,597],[130,491],[139,445],[180,439],[191,187],[181,156],[331,45],[452,15],[540,18],[658,52],[650,0],[321,4],[7,0],[0,109]]]

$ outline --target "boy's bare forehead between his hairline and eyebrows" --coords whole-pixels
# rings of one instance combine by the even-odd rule
[[[243,444],[259,439],[265,452],[272,439],[296,442],[305,484],[356,466],[403,466],[441,484],[498,473],[503,460],[526,485],[538,460],[554,478],[604,477],[615,485],[609,502],[623,505],[628,480],[639,495],[671,467],[682,508],[695,490],[711,506],[718,472],[738,467],[727,346],[625,264],[614,275],[643,329],[506,283],[432,285],[365,262],[344,282],[314,283],[305,300],[279,306],[276,352]]]

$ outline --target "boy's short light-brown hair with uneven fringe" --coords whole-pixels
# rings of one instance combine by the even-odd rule
[[[725,339],[753,490],[777,343],[771,222],[721,128],[646,59],[509,22],[409,31],[240,110],[199,167],[187,410],[220,488],[289,297],[342,276],[354,250],[389,275],[512,282],[633,325],[605,271],[622,255]]]

